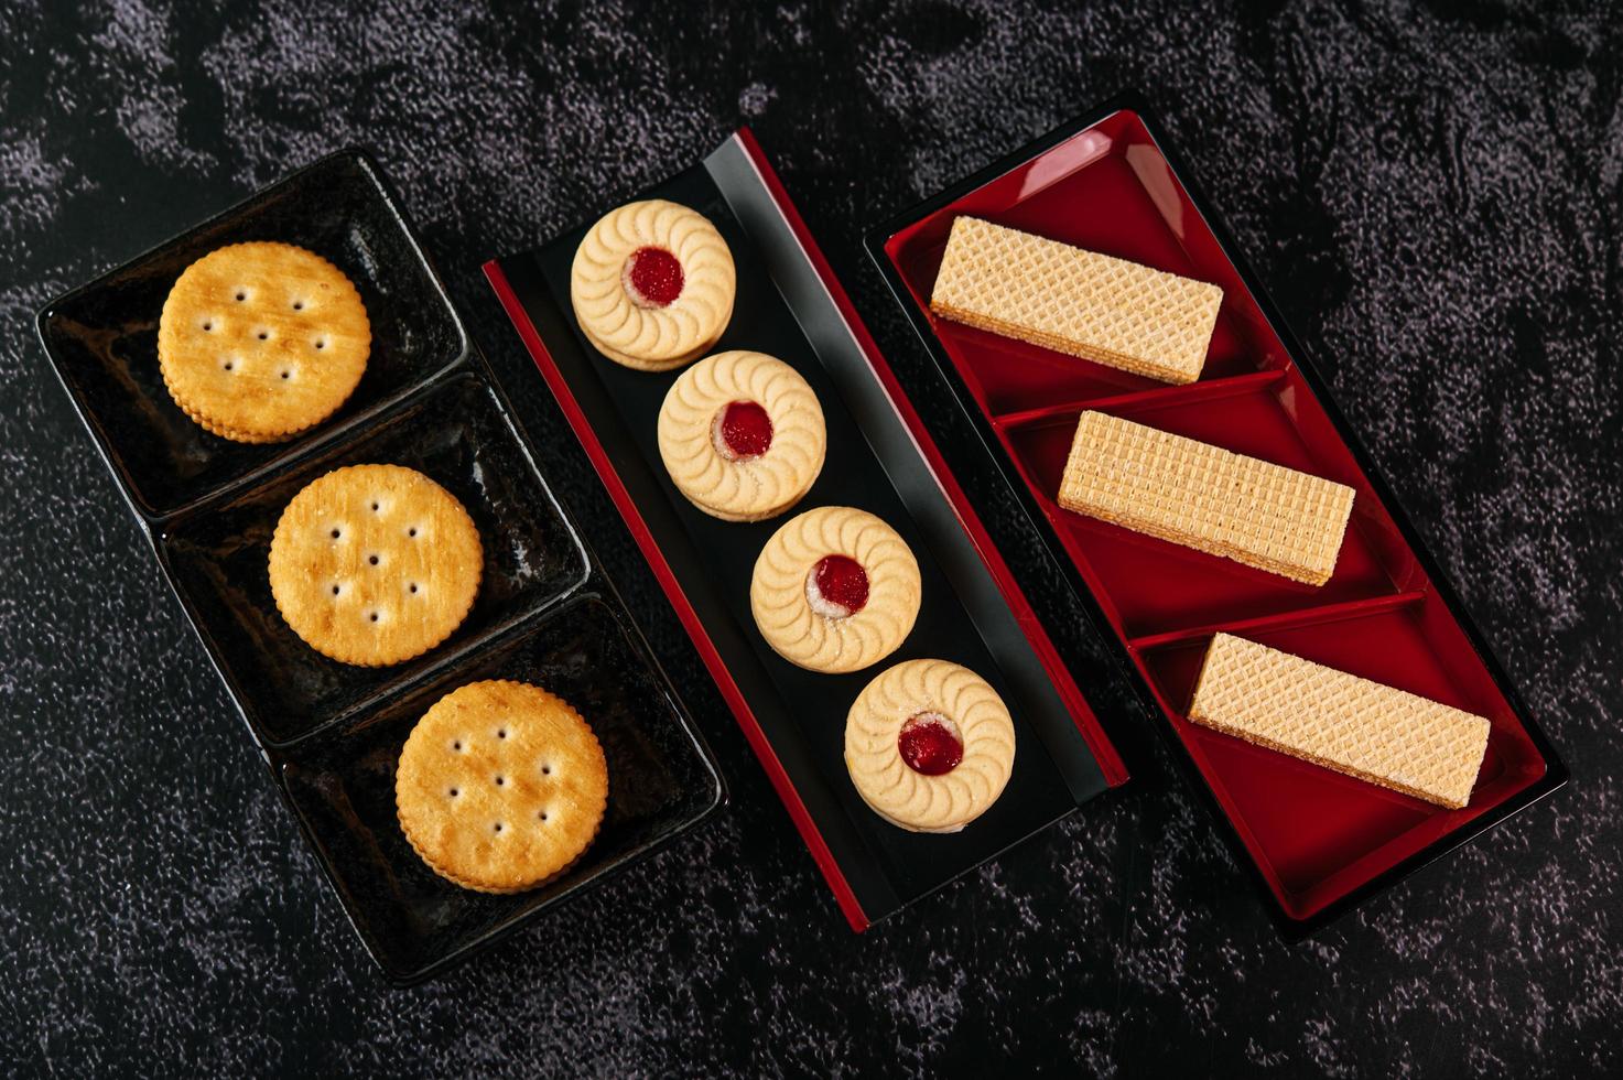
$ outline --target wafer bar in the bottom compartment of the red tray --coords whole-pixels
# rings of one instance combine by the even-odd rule
[[[1190,719],[1459,809],[1470,801],[1488,721],[1230,633],[1212,637]]]

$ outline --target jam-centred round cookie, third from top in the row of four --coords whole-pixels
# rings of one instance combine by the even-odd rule
[[[779,656],[823,672],[860,671],[919,617],[919,560],[867,510],[818,507],[779,528],[755,560],[750,611]]]

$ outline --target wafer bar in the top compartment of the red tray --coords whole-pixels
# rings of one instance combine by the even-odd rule
[[[1222,289],[958,218],[930,310],[1169,383],[1201,377]]]

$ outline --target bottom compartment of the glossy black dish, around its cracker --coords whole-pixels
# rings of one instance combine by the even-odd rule
[[[612,677],[605,677],[610,676]],[[424,864],[401,833],[394,767],[417,719],[480,679],[519,679],[588,716],[609,760],[609,809],[592,846],[540,888],[492,895]],[[355,931],[391,978],[414,981],[623,867],[722,797],[682,706],[625,617],[583,594],[354,724],[287,754],[282,780]]]

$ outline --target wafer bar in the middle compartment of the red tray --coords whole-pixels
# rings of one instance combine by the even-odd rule
[[[1347,531],[1352,489],[1104,413],[1083,413],[1060,481],[1060,505],[1324,585]]]

